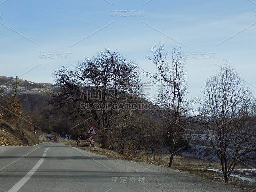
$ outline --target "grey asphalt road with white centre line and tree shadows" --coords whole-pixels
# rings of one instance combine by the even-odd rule
[[[2,146],[0,162],[0,192],[240,191],[184,172],[60,143]]]

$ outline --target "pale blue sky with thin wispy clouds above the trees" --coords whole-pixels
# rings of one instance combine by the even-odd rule
[[[57,67],[74,67],[107,47],[134,60],[141,70],[154,71],[145,58],[153,44],[163,43],[167,50],[182,44],[188,99],[201,96],[206,78],[223,61],[234,64],[252,84],[248,84],[252,91],[256,90],[256,0],[146,2],[0,0],[0,75],[20,76],[37,66],[20,78],[54,83],[52,72]],[[112,15],[113,10],[119,15]],[[120,15],[122,10],[127,17]],[[133,17],[130,10],[135,10]]]

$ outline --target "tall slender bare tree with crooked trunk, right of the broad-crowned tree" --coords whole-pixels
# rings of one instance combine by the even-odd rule
[[[182,134],[182,116],[185,116],[186,108],[191,101],[185,99],[187,93],[187,77],[185,60],[181,55],[180,47],[172,48],[171,61],[168,61],[168,53],[164,52],[164,45],[151,48],[152,57],[147,55],[157,69],[157,72],[145,72],[145,75],[153,79],[153,83],[161,83],[159,94],[155,104],[162,109],[164,121],[167,124],[167,138],[170,148],[170,162],[172,167],[174,149]]]

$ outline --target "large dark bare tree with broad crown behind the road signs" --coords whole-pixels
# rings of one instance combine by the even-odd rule
[[[106,49],[92,59],[84,59],[76,70],[64,67],[54,76],[60,93],[52,104],[67,108],[67,114],[74,118],[93,116],[102,148],[107,148],[108,132],[117,113],[113,103],[124,100],[125,94],[136,95],[140,89],[138,65]]]

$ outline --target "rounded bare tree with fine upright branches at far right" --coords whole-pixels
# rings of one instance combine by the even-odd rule
[[[252,160],[256,149],[252,122],[252,93],[236,68],[224,63],[210,76],[202,90],[203,106],[211,123],[205,131],[221,162],[225,183],[238,163]]]

